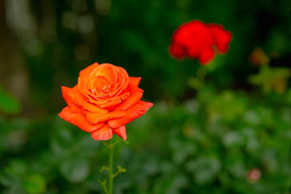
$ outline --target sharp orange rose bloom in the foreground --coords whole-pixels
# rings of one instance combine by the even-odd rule
[[[76,86],[62,86],[67,106],[59,116],[91,133],[94,140],[109,140],[113,133],[126,140],[125,125],[153,106],[140,100],[140,81],[119,66],[90,65],[81,70]]]

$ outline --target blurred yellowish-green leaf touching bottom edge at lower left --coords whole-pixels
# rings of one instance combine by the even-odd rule
[[[47,180],[40,174],[32,174],[24,178],[22,188],[27,194],[42,194],[46,191]]]

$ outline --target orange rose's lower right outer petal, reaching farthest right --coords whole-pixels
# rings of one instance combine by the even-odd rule
[[[139,102],[136,103],[130,109],[125,111],[126,115],[124,117],[119,118],[119,119],[109,120],[108,125],[112,128],[119,128],[123,125],[128,124],[129,122],[140,117],[141,115],[144,115],[149,109],[150,107],[149,105],[151,104],[147,104],[148,106],[144,106],[144,105],[145,103],[139,103]]]

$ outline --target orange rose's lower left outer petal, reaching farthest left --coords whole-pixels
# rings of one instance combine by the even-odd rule
[[[98,123],[96,125],[92,125],[89,123],[86,119],[86,117],[82,114],[77,114],[77,113],[71,113],[69,107],[65,107],[61,113],[59,113],[59,116],[64,119],[65,121],[76,125],[80,129],[86,132],[92,132],[94,130],[100,129],[105,122]]]

